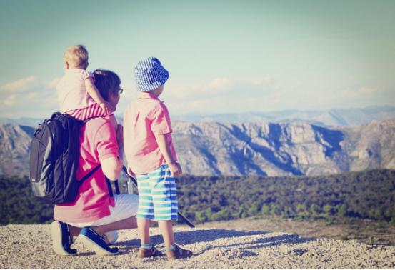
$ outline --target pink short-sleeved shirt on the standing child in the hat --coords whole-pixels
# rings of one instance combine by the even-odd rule
[[[171,132],[169,111],[163,101],[154,94],[139,93],[124,113],[124,146],[129,168],[135,174],[146,174],[166,163],[155,134],[166,134],[171,156],[176,161]]]

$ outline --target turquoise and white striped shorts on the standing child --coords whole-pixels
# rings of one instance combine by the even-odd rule
[[[139,189],[137,217],[154,221],[177,220],[176,179],[164,164],[148,174],[136,176]]]

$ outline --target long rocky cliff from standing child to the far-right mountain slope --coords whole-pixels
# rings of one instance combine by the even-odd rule
[[[174,141],[188,174],[302,175],[341,171],[341,131],[310,124],[178,123]]]

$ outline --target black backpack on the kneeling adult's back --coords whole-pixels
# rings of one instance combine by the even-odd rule
[[[36,129],[30,152],[34,196],[53,204],[72,202],[84,180],[99,169],[100,165],[96,166],[80,181],[75,178],[79,165],[79,130],[87,120],[79,121],[56,112]]]

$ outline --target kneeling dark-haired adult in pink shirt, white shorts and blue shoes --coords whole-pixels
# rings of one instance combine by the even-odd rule
[[[119,76],[107,70],[96,70],[94,76],[101,96],[116,108],[122,92]],[[81,127],[79,141],[76,179],[81,179],[98,165],[100,168],[81,184],[75,201],[55,205],[55,221],[51,224],[53,249],[56,254],[76,254],[71,244],[73,236],[79,236],[96,254],[116,254],[118,249],[106,244],[105,234],[136,228],[139,203],[136,195],[111,196],[106,181],[106,178],[111,181],[118,179],[121,173],[122,126],[116,124],[114,116],[91,119]]]

